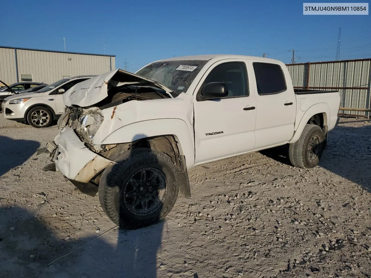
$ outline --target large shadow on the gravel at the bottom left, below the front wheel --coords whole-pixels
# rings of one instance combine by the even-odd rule
[[[156,254],[161,245],[162,223],[76,241],[73,237],[64,240],[57,236],[46,221],[18,206],[0,207],[0,230],[4,231],[0,235],[0,277],[157,277]],[[116,238],[115,244],[113,239],[107,241],[112,237]],[[83,247],[77,249],[80,246]],[[63,255],[66,256],[59,258]]]

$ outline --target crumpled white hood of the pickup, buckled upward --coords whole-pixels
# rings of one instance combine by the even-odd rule
[[[77,83],[63,94],[63,101],[66,106],[91,106],[108,96],[108,86],[118,87],[125,84],[154,86],[165,90],[171,97],[170,92],[172,91],[161,83],[134,73],[126,72],[122,69],[116,69]]]

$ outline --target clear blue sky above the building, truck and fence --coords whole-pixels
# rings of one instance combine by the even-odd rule
[[[153,60],[245,54],[290,62],[371,57],[371,15],[304,16],[302,1],[3,1],[0,45],[116,55],[135,72]],[[370,13],[371,14],[371,13]]]

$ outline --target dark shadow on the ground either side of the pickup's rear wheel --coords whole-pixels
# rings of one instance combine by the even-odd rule
[[[287,145],[263,150],[260,153],[278,162],[291,165]],[[329,132],[327,148],[322,154],[319,166],[371,192],[370,160],[371,126],[338,125]]]

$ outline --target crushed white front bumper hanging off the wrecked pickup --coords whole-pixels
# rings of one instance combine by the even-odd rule
[[[43,152],[49,154],[58,172],[82,183],[88,183],[103,169],[115,164],[89,150],[69,127],[60,129],[54,142],[49,142]]]

